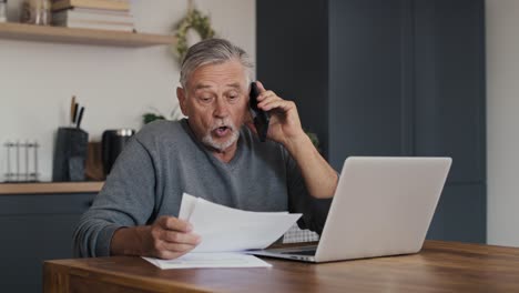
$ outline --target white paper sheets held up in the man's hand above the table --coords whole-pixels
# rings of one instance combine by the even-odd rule
[[[184,193],[180,219],[189,221],[202,242],[194,252],[236,252],[265,249],[279,239],[302,214],[247,212]]]

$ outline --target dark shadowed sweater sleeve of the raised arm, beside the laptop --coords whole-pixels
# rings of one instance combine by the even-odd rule
[[[303,216],[297,221],[297,225],[320,235],[332,199],[316,199],[309,195],[299,166],[288,152],[284,151],[288,185],[288,211],[291,213],[303,213]]]

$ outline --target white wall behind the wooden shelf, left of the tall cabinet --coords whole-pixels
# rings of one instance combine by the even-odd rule
[[[21,1],[9,0],[10,9]],[[255,60],[255,0],[197,0],[218,37]],[[132,0],[138,31],[172,33],[187,0]],[[11,10],[10,18],[17,12]],[[6,141],[38,140],[40,172],[52,175],[55,130],[65,125],[71,95],[85,105],[82,128],[91,140],[105,129],[141,128],[150,109],[176,107],[179,64],[166,46],[144,49],[39,43],[0,39],[0,181]]]

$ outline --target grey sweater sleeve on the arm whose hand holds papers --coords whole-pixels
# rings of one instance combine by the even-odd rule
[[[115,230],[146,224],[155,203],[155,173],[150,152],[133,138],[119,155],[73,236],[78,257],[110,255]]]

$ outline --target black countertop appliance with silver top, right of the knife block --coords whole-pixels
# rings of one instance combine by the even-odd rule
[[[135,134],[133,129],[112,129],[103,132],[101,154],[103,159],[104,175],[112,170],[115,159],[124,149],[130,138]]]

